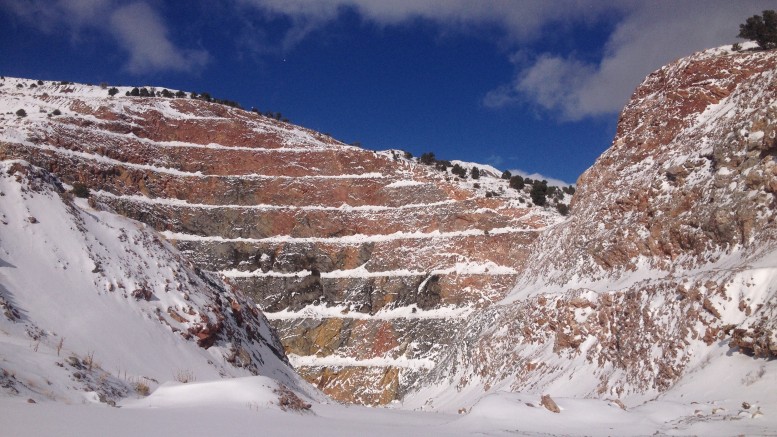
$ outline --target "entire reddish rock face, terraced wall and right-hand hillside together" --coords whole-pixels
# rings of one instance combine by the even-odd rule
[[[637,403],[726,353],[777,355],[775,71],[774,51],[715,49],[648,76],[566,219],[489,174],[72,84],[2,82],[0,158],[87,185],[251,296],[335,399]]]

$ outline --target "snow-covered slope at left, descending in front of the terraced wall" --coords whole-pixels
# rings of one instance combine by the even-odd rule
[[[317,396],[264,316],[138,222],[0,163],[0,396],[115,402],[265,375]]]

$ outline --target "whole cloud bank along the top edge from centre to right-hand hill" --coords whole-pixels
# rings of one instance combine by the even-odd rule
[[[438,24],[444,31],[471,32],[486,26],[502,32],[500,45],[516,47],[515,76],[487,93],[489,108],[529,104],[562,120],[611,115],[620,111],[639,82],[676,58],[736,41],[738,24],[769,1],[709,0],[239,0],[269,16],[285,16],[292,26],[286,49],[337,19],[357,12],[380,26],[414,20]],[[571,34],[575,26],[594,26],[617,18],[604,55],[584,61],[569,53],[527,54],[519,49],[548,32]]]

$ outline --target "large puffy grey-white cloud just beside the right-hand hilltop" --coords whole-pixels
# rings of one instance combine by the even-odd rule
[[[529,65],[516,62],[513,82],[486,94],[483,104],[501,107],[530,102],[563,119],[617,113],[642,79],[694,51],[736,41],[738,24],[767,8],[767,2],[646,1],[633,5],[618,23],[599,62],[540,54]]]

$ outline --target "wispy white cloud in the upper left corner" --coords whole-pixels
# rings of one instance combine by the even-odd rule
[[[75,42],[84,32],[108,35],[129,54],[126,68],[132,73],[190,71],[208,60],[204,50],[177,47],[165,21],[144,1],[0,0],[0,8],[42,32],[65,32]]]

